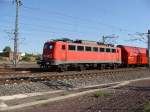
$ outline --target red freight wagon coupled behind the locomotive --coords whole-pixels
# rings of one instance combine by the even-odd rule
[[[121,48],[122,64],[124,66],[148,65],[148,53],[146,48],[118,45]]]

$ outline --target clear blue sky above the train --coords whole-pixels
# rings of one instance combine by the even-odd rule
[[[0,0],[0,50],[13,48],[15,5]],[[45,41],[67,37],[101,40],[115,34],[118,44],[146,47],[136,32],[150,28],[149,0],[22,0],[19,50],[42,52]],[[128,35],[132,34],[132,35]]]

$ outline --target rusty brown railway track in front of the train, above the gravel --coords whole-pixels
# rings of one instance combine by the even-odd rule
[[[144,73],[149,73],[150,70],[146,68],[128,68],[117,70],[88,70],[88,71],[68,71],[63,73],[58,72],[0,72],[0,84],[12,84],[12,83],[29,83],[38,81],[51,81],[51,80],[76,80],[84,78],[102,77],[111,80],[118,80],[117,78],[126,78],[127,75],[133,75],[137,77],[144,76]]]

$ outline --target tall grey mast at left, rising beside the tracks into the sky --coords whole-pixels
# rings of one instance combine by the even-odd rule
[[[14,64],[17,66],[18,61],[18,40],[19,40],[19,7],[21,6],[21,0],[15,0],[16,3],[16,20],[15,20],[15,32],[14,32]]]

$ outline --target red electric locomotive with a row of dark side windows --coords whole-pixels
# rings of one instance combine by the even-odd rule
[[[68,67],[116,67],[121,64],[121,49],[110,45],[50,41],[43,49],[43,67],[55,66],[59,69]]]

